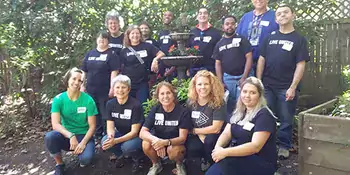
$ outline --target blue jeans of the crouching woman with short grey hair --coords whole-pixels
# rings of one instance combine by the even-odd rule
[[[114,138],[123,136],[120,132],[115,132]],[[107,140],[108,136],[105,135],[101,140],[101,145]],[[135,137],[131,140],[118,143],[107,151],[114,153],[117,157],[132,156],[133,159],[138,159],[142,155],[142,140],[139,137]]]

